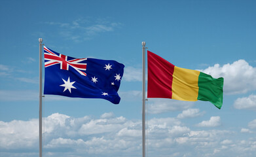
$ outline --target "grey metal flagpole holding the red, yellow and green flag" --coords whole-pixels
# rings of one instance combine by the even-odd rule
[[[145,157],[145,45],[142,42],[142,156]]]

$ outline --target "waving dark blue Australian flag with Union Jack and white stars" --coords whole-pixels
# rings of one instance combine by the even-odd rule
[[[114,60],[72,58],[44,46],[44,94],[101,98],[118,104],[124,65]]]

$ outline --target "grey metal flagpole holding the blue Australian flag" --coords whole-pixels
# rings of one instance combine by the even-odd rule
[[[42,42],[39,38],[39,156],[42,157]]]

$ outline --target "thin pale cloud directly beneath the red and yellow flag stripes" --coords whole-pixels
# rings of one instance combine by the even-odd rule
[[[148,110],[151,114],[166,113],[170,111],[182,111],[194,105],[191,101],[179,101],[175,99],[149,99]]]

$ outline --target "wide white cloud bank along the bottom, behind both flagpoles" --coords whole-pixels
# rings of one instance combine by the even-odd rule
[[[141,156],[141,120],[115,117],[113,113],[103,113],[100,118],[73,118],[54,113],[44,119],[46,156]],[[81,133],[84,126],[86,130]],[[215,156],[255,154],[255,139],[237,140],[234,131],[195,131],[170,117],[151,118],[147,126],[147,148],[152,156],[203,157],[212,156],[213,152]],[[31,151],[38,148],[38,120],[0,121],[0,139],[0,149],[5,156],[35,156]]]

